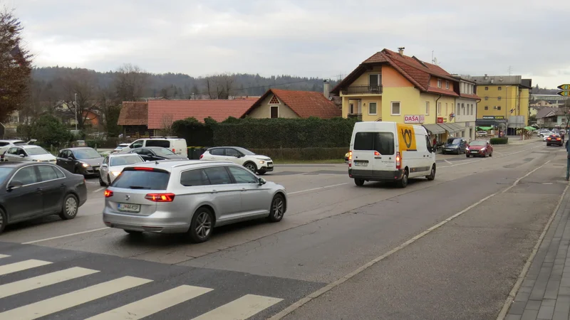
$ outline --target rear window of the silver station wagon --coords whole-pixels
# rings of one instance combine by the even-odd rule
[[[166,190],[170,174],[165,171],[125,170],[113,181],[113,188]]]

